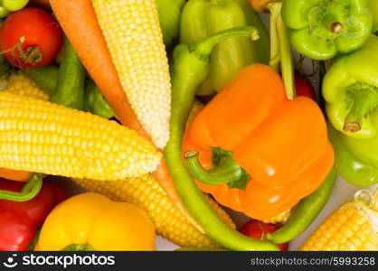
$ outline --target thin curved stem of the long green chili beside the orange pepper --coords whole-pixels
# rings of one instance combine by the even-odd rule
[[[255,27],[233,27],[230,29],[220,31],[218,33],[214,33],[212,36],[209,36],[202,42],[195,43],[195,52],[200,53],[202,55],[210,55],[215,45],[233,36],[250,37],[252,41],[257,41],[260,39],[260,33]],[[190,49],[192,48],[190,47]]]

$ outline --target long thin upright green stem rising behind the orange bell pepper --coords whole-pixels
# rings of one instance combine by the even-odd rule
[[[271,45],[271,60],[269,62],[273,68],[277,68],[277,61],[281,63],[281,74],[285,85],[286,97],[289,100],[296,98],[296,89],[294,85],[294,67],[291,58],[290,44],[288,42],[288,30],[281,16],[281,2],[273,2],[268,6],[270,12],[270,41],[274,42]],[[277,44],[279,46],[279,58],[277,57]]]

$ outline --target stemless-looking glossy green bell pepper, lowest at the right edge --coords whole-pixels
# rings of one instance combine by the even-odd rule
[[[328,124],[329,139],[335,150],[335,171],[346,182],[367,187],[378,182],[378,136],[353,138]]]

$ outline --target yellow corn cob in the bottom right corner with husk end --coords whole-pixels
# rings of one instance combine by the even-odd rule
[[[369,198],[369,199],[367,199]],[[378,250],[378,191],[360,191],[335,210],[301,250]]]

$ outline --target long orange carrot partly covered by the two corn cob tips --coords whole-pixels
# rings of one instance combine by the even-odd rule
[[[150,136],[137,119],[121,87],[117,70],[111,60],[91,1],[51,0],[50,4],[52,5],[52,11],[56,18],[59,23],[61,23],[61,28],[78,53],[80,60],[90,73],[91,78],[99,86],[109,106],[112,107],[116,113],[119,121],[122,125],[136,130],[139,135],[151,141]],[[154,174],[157,181],[163,187],[171,201],[175,203],[176,207],[197,229],[201,230],[198,223],[184,208],[183,202],[175,191],[175,185],[164,158]]]

